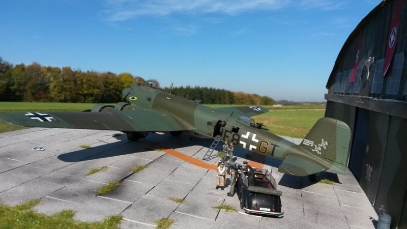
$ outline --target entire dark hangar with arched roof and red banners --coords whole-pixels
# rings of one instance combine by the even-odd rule
[[[392,228],[407,228],[406,38],[407,1],[382,1],[347,38],[325,95],[325,116],[352,130],[348,167]]]

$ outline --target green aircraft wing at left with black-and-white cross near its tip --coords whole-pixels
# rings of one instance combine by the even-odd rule
[[[180,125],[163,111],[153,109],[103,112],[25,112],[2,113],[3,121],[25,127],[95,129],[119,131],[177,131],[188,128]]]

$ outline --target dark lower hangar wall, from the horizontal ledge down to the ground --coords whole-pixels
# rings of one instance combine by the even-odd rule
[[[392,228],[407,228],[407,120],[328,101],[325,117],[351,127],[348,167],[377,212],[384,205]]]

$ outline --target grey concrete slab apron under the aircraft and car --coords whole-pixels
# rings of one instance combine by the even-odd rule
[[[300,142],[299,139],[291,139]],[[55,214],[64,209],[75,218],[101,221],[108,215],[122,215],[121,228],[154,228],[156,219],[169,217],[171,228],[374,228],[377,214],[352,173],[321,178],[334,185],[313,183],[278,173],[281,161],[264,158],[283,192],[283,217],[249,215],[240,209],[237,195],[226,196],[215,189],[214,170],[201,168],[158,149],[175,149],[200,160],[210,139],[188,135],[149,134],[131,142],[118,131],[31,128],[0,134],[0,203],[15,205],[34,198],[41,203],[35,210]],[[45,151],[33,151],[34,146]],[[90,145],[91,149],[81,149]],[[217,152],[214,152],[215,154]],[[235,160],[242,163],[248,151],[237,149]],[[218,157],[208,161],[216,164]],[[132,168],[147,168],[132,174]],[[108,166],[87,176],[89,169]],[[110,193],[96,191],[109,181],[122,180]],[[184,198],[176,203],[169,197]],[[230,213],[213,207],[226,204],[237,209]]]

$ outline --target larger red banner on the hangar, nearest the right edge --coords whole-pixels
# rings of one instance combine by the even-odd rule
[[[383,76],[389,70],[396,49],[398,27],[400,25],[401,13],[403,11],[404,0],[395,0],[393,3],[392,15],[390,19],[389,34],[386,42],[385,64],[383,67]]]

